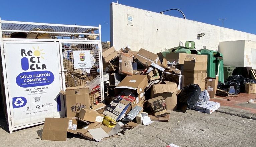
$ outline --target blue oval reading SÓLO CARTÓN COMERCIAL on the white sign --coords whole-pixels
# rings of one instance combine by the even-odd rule
[[[49,85],[54,81],[54,75],[50,71],[22,72],[16,77],[16,83],[20,87],[36,87]]]

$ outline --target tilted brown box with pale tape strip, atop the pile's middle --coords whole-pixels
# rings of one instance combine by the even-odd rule
[[[135,59],[139,60],[139,62],[142,63],[145,67],[149,67],[152,63],[156,63],[158,65],[161,64],[157,54],[154,54],[143,48],[139,50],[135,56]]]

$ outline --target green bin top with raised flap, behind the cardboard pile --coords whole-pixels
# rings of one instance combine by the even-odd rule
[[[167,49],[162,52],[163,56],[167,53],[187,53],[187,54],[200,54],[199,51],[195,50],[195,42],[192,41],[186,41],[185,47],[182,46],[181,41],[179,42],[179,46]]]

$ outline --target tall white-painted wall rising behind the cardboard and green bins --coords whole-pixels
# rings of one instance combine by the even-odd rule
[[[127,14],[133,15],[133,26],[127,25]],[[179,41],[194,41],[196,49],[216,50],[220,41],[252,40],[256,35],[210,24],[177,18],[116,3],[110,5],[110,40],[117,50],[129,45],[153,53],[179,46]],[[157,30],[158,29],[158,30]],[[205,33],[203,37],[197,34]]]

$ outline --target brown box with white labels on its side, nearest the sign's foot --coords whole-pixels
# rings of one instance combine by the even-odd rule
[[[77,131],[74,118],[45,118],[42,140],[66,141],[67,132],[77,134]]]

